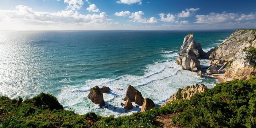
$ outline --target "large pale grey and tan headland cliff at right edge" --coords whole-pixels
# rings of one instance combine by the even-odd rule
[[[211,53],[209,59],[211,64],[221,66],[221,72],[225,72],[224,77],[233,79],[248,79],[255,69],[248,60],[245,60],[248,51],[256,47],[256,30],[241,29],[236,30],[231,36],[224,40],[215,51]]]

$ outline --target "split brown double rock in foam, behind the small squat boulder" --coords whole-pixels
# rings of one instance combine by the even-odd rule
[[[142,97],[141,92],[139,92],[137,89],[135,89],[133,86],[129,85],[126,91],[126,96],[123,99],[126,101],[127,99],[130,99],[131,102],[135,102],[135,104],[142,105],[144,98]]]

